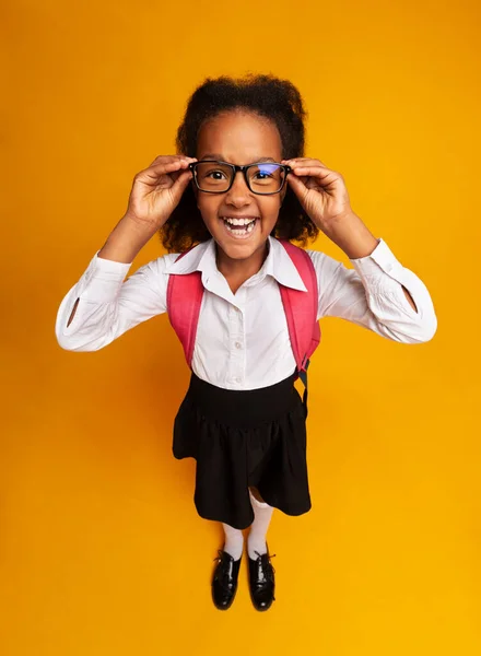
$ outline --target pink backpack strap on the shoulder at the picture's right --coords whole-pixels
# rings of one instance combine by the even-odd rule
[[[306,292],[279,285],[288,320],[289,336],[297,366],[297,376],[304,384],[304,406],[307,412],[307,367],[310,355],[319,345],[320,327],[317,320],[318,285],[316,270],[308,254],[286,239],[279,239],[294,262]]]

